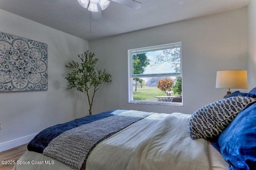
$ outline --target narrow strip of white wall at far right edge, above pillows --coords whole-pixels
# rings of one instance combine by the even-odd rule
[[[256,87],[256,0],[248,5],[248,86]]]

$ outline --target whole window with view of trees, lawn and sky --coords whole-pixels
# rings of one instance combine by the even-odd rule
[[[182,105],[181,43],[128,50],[129,103]]]

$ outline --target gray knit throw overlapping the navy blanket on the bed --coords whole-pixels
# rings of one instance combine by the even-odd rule
[[[43,154],[74,170],[83,170],[91,150],[98,143],[151,114],[130,110],[81,125],[54,138]]]

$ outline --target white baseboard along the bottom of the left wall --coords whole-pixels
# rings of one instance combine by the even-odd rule
[[[0,152],[29,143],[36,135],[37,133],[0,143]]]

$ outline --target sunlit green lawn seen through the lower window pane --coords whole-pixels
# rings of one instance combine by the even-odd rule
[[[140,101],[158,101],[154,96],[167,96],[165,92],[162,92],[157,87],[144,86],[142,88],[137,87],[135,92],[135,87],[133,87],[133,100]],[[174,95],[172,95],[174,96]]]

